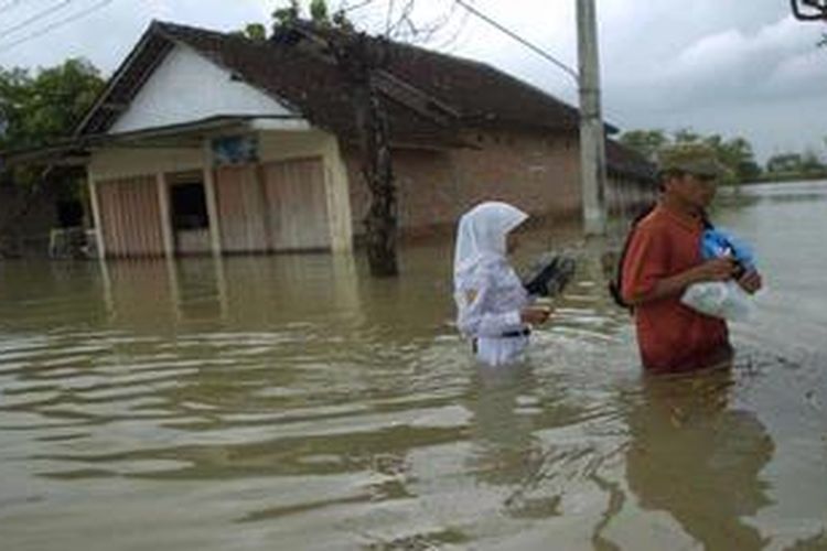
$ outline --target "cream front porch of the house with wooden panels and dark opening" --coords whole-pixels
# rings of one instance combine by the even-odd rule
[[[115,134],[92,148],[87,172],[107,258],[352,247],[339,142],[299,119],[219,118]]]

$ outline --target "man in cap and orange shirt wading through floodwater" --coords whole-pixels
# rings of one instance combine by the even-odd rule
[[[672,148],[660,155],[662,195],[633,229],[622,266],[621,294],[634,311],[637,344],[646,369],[687,371],[731,358],[727,323],[680,303],[687,287],[738,276],[749,293],[761,288],[755,271],[740,273],[731,258],[704,260],[705,214],[721,168],[701,145]]]

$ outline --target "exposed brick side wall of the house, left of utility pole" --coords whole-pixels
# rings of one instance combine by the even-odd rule
[[[474,132],[479,149],[396,150],[399,226],[406,235],[455,224],[481,201],[506,201],[535,216],[571,217],[580,209],[579,150],[573,134]],[[358,153],[344,149],[354,235],[364,234],[369,195]]]

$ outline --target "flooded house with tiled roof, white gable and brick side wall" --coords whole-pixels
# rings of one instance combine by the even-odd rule
[[[107,257],[348,250],[369,194],[354,110],[325,32],[253,41],[153,22],[72,140]],[[308,36],[314,40],[309,40]],[[370,39],[377,41],[378,39]],[[399,229],[452,225],[485,198],[581,208],[578,111],[485,64],[383,42]],[[654,193],[608,140],[612,207]]]

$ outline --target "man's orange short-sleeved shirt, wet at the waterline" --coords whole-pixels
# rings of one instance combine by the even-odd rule
[[[623,298],[648,293],[655,283],[702,262],[704,226],[655,207],[634,229],[623,262]],[[635,307],[641,358],[647,369],[685,371],[710,366],[730,352],[723,320],[680,303],[680,294]]]

